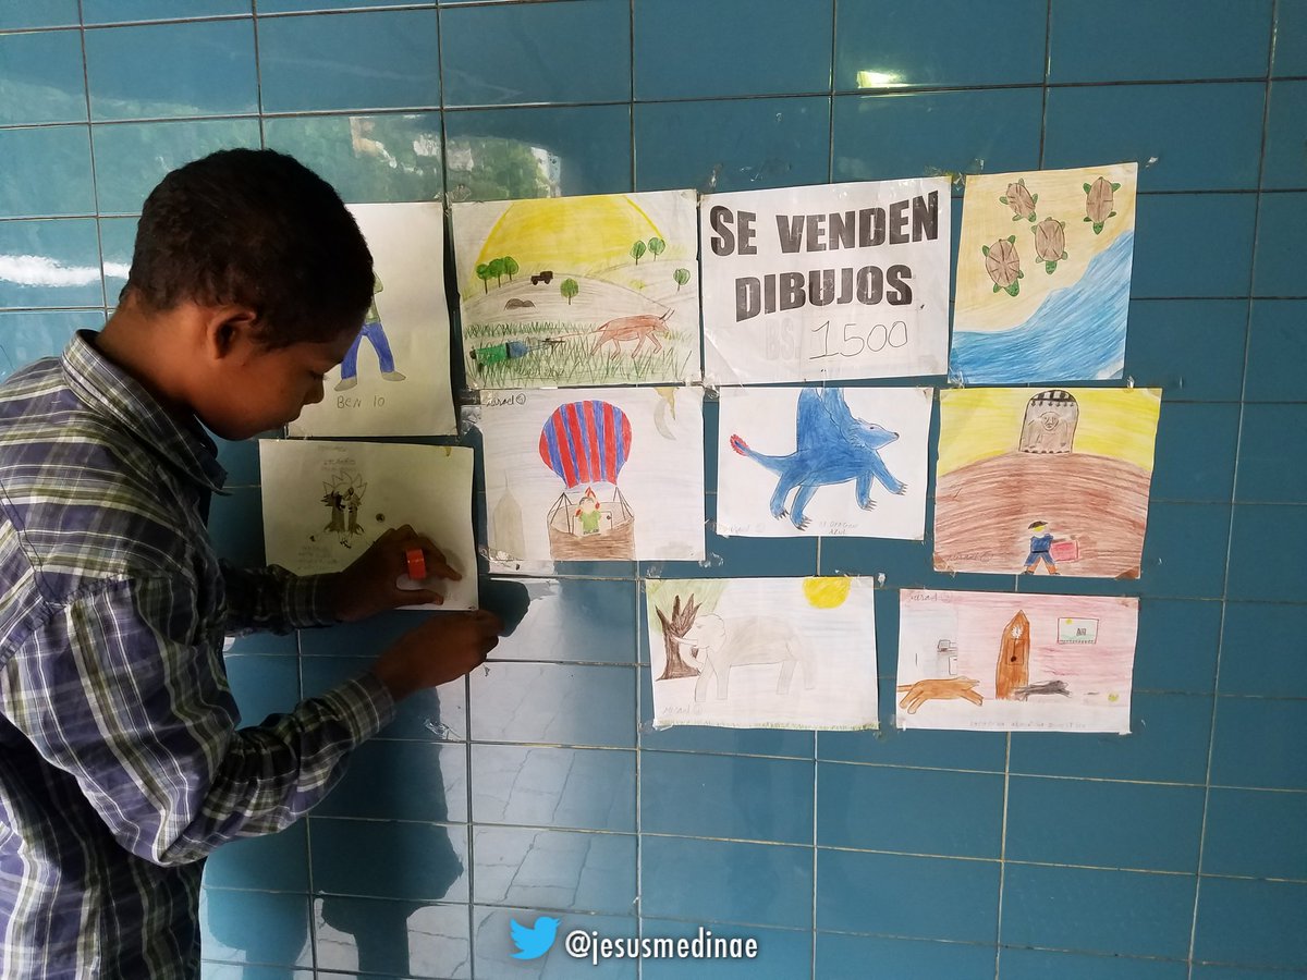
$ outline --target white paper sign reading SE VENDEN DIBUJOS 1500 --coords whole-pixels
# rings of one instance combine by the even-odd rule
[[[704,379],[944,374],[949,217],[945,178],[706,196]]]

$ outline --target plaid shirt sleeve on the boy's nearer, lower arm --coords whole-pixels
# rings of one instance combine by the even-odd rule
[[[0,710],[77,780],[124,848],[159,865],[285,828],[395,713],[363,674],[237,729],[221,643],[192,635],[195,600],[184,580],[98,584],[0,672]]]

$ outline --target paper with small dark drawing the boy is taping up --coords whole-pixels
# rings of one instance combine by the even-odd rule
[[[443,605],[410,608],[476,609],[472,457],[461,446],[261,439],[268,563],[297,575],[340,571],[382,532],[410,524],[463,575],[430,583]]]

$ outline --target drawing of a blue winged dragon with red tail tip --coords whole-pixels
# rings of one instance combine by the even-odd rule
[[[723,536],[920,541],[931,388],[723,388]]]

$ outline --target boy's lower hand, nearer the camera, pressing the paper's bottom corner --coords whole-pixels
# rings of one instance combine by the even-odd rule
[[[503,621],[485,609],[433,615],[396,640],[372,665],[395,700],[463,677],[499,643]]]

